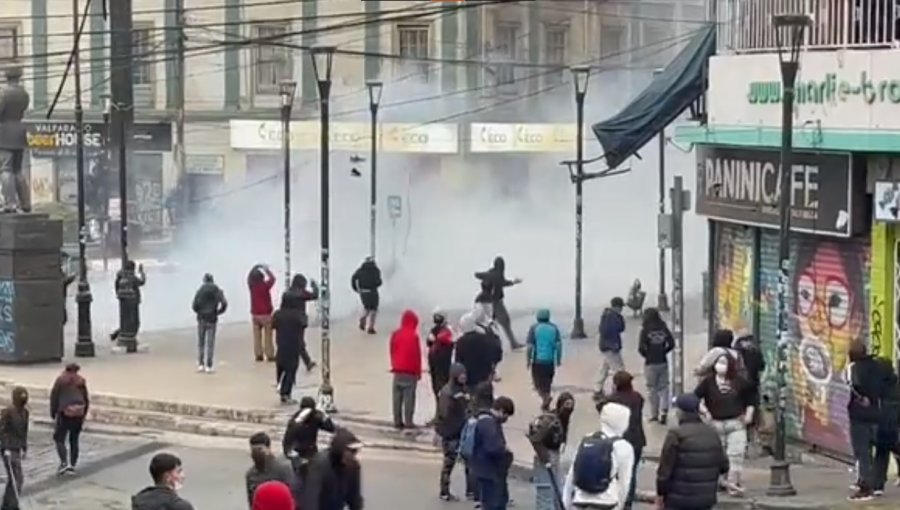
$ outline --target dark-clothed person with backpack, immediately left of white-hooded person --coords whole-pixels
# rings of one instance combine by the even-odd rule
[[[574,411],[575,398],[571,393],[563,392],[556,399],[556,409],[541,413],[528,426],[528,441],[535,454],[532,477],[535,510],[557,510],[559,459],[566,446],[569,422]]]

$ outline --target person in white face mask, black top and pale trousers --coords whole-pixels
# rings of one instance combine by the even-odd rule
[[[731,466],[725,487],[733,496],[744,492],[741,471],[747,449],[747,426],[753,423],[755,412],[753,388],[737,371],[735,358],[722,354],[713,364],[713,374],[704,377],[694,390],[725,446]]]

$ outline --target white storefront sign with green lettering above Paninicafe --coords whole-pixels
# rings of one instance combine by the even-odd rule
[[[794,126],[900,130],[898,70],[896,50],[801,52]],[[709,72],[710,125],[781,125],[776,54],[713,57]]]

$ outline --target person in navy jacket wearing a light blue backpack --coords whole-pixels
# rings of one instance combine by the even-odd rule
[[[509,503],[507,476],[513,455],[503,424],[515,411],[509,397],[497,397],[490,409],[479,409],[463,427],[459,453],[476,481],[482,510],[506,510]]]

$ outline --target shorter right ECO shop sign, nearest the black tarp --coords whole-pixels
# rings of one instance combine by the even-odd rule
[[[574,152],[574,124],[472,124],[473,153]]]

